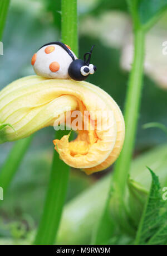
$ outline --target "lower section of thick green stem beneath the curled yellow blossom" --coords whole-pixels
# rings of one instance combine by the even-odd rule
[[[59,131],[56,138],[61,139],[63,135],[64,132]],[[55,150],[45,206],[34,244],[55,243],[66,198],[69,170],[70,167],[59,159]]]

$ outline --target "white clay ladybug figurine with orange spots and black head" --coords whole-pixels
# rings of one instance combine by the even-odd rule
[[[84,54],[84,60],[77,59],[71,48],[62,42],[43,45],[32,57],[31,64],[37,75],[52,79],[85,80],[94,74],[96,66],[90,64],[91,50]]]

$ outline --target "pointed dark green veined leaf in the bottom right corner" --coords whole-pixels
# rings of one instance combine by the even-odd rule
[[[161,198],[159,179],[150,168],[148,169],[152,176],[152,183],[137,230],[135,244],[165,244],[167,243],[167,211],[161,214],[164,202]],[[165,233],[164,237],[161,233]]]

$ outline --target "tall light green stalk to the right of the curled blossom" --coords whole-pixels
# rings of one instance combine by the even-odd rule
[[[110,222],[106,218],[109,215],[109,206],[112,204],[112,214],[117,220],[117,223],[124,229],[134,234],[129,221],[126,219],[127,215],[124,208],[125,188],[127,186],[127,177],[130,171],[130,164],[132,158],[132,151],[135,143],[137,118],[139,115],[140,99],[142,92],[142,78],[144,65],[144,32],[140,28],[134,32],[134,61],[130,73],[127,96],[125,102],[125,142],[121,151],[120,157],[115,164],[114,176],[110,185],[109,195],[105,203],[104,211],[102,213],[99,227],[94,238],[94,243],[99,244],[100,239],[109,239],[109,235],[105,232],[105,236],[101,235],[101,226],[114,226],[114,221]],[[104,241],[102,241],[104,242]]]

